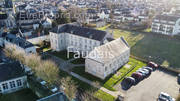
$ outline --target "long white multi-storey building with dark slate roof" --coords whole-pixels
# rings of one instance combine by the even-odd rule
[[[74,26],[60,25],[50,32],[51,48],[55,51],[69,50],[86,55],[95,47],[108,42],[112,36],[105,31]]]

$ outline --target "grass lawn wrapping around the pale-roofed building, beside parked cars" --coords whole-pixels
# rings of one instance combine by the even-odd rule
[[[139,69],[145,65],[146,64],[141,62],[141,61],[130,58],[127,65],[121,67],[115,74],[110,75],[105,80],[101,80],[101,79],[99,79],[99,78],[97,78],[97,77],[95,77],[89,73],[86,73],[85,67],[75,67],[75,68],[73,68],[72,71],[83,76],[83,77],[85,77],[85,78],[87,78],[88,80],[91,80],[93,82],[99,82],[106,89],[109,89],[111,91],[115,91],[115,89],[113,87],[117,83],[120,83],[124,76],[131,75],[134,71],[136,71],[137,69]],[[130,70],[132,70],[132,71],[130,73],[128,73],[128,71],[130,71]]]

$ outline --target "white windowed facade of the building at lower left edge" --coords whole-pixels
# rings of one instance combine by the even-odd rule
[[[27,87],[27,76],[0,82],[0,93],[12,93]]]

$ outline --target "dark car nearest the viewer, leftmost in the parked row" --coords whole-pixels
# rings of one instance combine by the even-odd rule
[[[131,86],[133,86],[135,84],[135,79],[132,77],[127,77],[125,78],[121,85],[122,85],[122,89],[124,90],[128,90],[129,88],[131,88]]]

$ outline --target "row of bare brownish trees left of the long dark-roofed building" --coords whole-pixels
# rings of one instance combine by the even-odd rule
[[[57,83],[59,79],[59,69],[54,62],[41,60],[41,57],[37,54],[26,54],[13,46],[6,47],[4,52],[7,57],[20,61],[22,64],[31,68],[36,76],[50,84]]]

